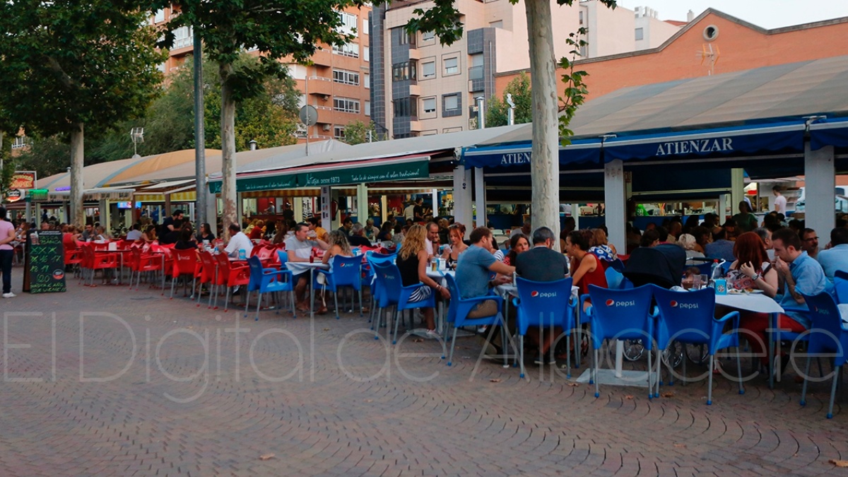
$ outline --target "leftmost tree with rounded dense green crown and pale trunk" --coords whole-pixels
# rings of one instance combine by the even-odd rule
[[[85,129],[141,114],[165,56],[136,2],[0,3],[0,109],[16,126],[71,143],[71,221],[82,222]]]

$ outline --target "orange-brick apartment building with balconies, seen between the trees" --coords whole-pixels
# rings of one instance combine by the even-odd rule
[[[312,56],[312,65],[298,65],[291,59],[283,59],[289,73],[297,82],[300,105],[310,104],[318,111],[315,126],[298,129],[298,139],[305,141],[321,139],[343,139],[344,128],[352,121],[371,121],[371,75],[370,42],[368,24],[371,7],[346,8],[339,12],[343,26],[341,31],[354,39],[342,47],[324,45]],[[159,10],[153,15],[153,25],[164,24],[170,19],[170,8]],[[174,46],[168,59],[159,65],[165,75],[178,69],[194,48],[191,27],[183,26],[174,31]],[[251,51],[251,50],[248,50]],[[259,52],[253,50],[253,53]]]

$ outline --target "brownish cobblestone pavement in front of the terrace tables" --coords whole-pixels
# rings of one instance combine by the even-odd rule
[[[762,376],[744,396],[718,376],[712,406],[706,380],[596,399],[548,367],[477,363],[473,338],[448,368],[437,341],[393,347],[353,313],[254,322],[75,279],[0,306],[2,475],[848,474],[828,463],[848,459],[829,383],[806,407]]]

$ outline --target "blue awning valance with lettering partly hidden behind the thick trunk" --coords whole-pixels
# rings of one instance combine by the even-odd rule
[[[527,166],[531,162],[531,143],[462,149],[466,167]],[[560,147],[560,166],[594,162],[600,163],[600,139],[583,139]]]

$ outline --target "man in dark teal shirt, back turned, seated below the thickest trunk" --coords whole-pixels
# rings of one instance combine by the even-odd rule
[[[568,276],[568,261],[566,255],[553,250],[554,232],[548,227],[538,227],[533,231],[533,248],[516,255],[516,273],[522,278],[534,282],[555,282]],[[461,257],[462,255],[460,255]],[[599,266],[600,267],[600,266]],[[571,293],[571,290],[568,290]],[[554,328],[553,333],[545,336],[544,343],[539,340],[540,330],[538,327],[527,329],[527,336],[535,343],[540,344],[541,356],[550,356],[548,364],[556,364],[556,358],[551,345],[554,337],[562,334],[562,328]],[[541,358],[536,358],[536,364],[542,364]]]

